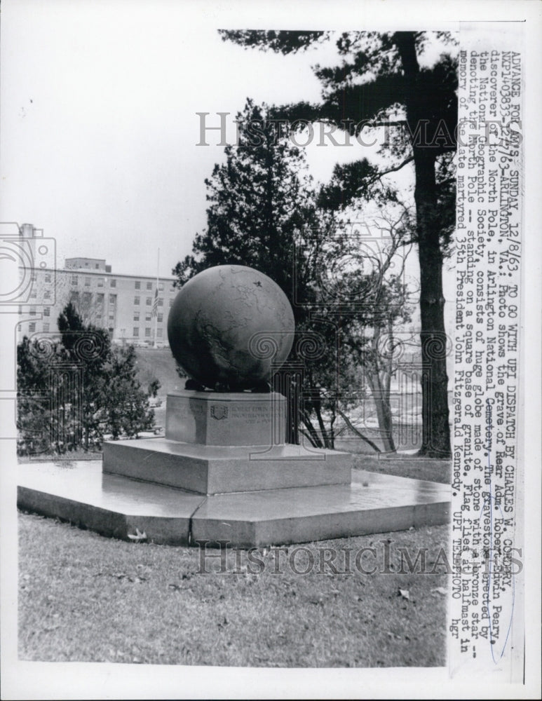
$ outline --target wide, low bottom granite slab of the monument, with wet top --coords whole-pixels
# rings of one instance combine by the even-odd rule
[[[351,484],[217,496],[104,474],[99,461],[18,465],[18,474],[21,509],[165,545],[287,545],[449,522],[449,486],[377,472],[355,470]]]

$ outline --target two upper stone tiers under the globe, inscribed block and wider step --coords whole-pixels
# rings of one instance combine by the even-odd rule
[[[348,453],[285,445],[277,393],[176,392],[165,416],[165,438],[104,443],[104,472],[208,495],[351,481]]]

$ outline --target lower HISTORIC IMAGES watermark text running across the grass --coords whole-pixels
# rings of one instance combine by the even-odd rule
[[[461,576],[499,576],[513,579],[523,569],[522,550],[503,540],[501,547],[454,547],[450,557],[444,547],[415,550],[389,538],[364,547],[306,545],[231,548],[229,540],[196,540],[199,574],[273,575],[374,575],[416,574],[452,576],[452,597],[461,597]]]

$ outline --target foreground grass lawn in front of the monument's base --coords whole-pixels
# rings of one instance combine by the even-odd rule
[[[399,573],[398,548],[407,547],[414,561],[416,548],[426,547],[432,569],[440,548],[447,550],[448,526],[304,544],[293,562],[307,574],[291,566],[292,551],[300,546],[290,546],[287,554],[259,550],[258,567],[247,561],[246,551],[229,551],[226,572],[212,558],[205,567],[214,571],[201,573],[198,548],[125,543],[26,513],[20,513],[19,541],[24,660],[445,665],[448,576]],[[331,550],[323,556],[324,547]],[[350,566],[343,547],[353,549]],[[361,557],[366,571],[382,567],[386,547],[388,573],[360,573],[354,559],[362,547],[377,551]],[[320,562],[329,562],[332,550],[339,573]]]

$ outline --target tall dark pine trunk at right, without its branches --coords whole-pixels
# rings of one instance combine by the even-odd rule
[[[428,145],[431,143],[431,134],[428,135],[426,144],[423,130],[417,130],[423,123],[425,95],[419,81],[414,32],[398,32],[394,39],[405,72],[407,122],[411,135],[418,135],[416,141],[413,140],[412,152],[416,172],[414,200],[420,263],[422,442],[419,455],[449,458],[447,343],[440,226],[436,215],[436,154],[435,147]],[[421,143],[417,141],[420,138]]]

